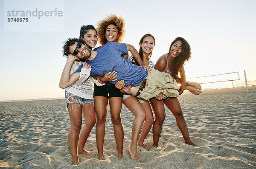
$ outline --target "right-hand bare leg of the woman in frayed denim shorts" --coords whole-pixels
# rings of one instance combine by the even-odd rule
[[[82,111],[84,114],[85,124],[80,132],[78,153],[90,155],[92,152],[84,150],[84,146],[87,141],[87,138],[90,135],[90,132],[93,126],[96,123],[96,113],[94,110],[94,104],[93,103],[84,104]]]

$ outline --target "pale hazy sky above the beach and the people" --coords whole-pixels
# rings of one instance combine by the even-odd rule
[[[154,62],[168,52],[176,37],[186,39],[192,49],[192,58],[184,67],[186,78],[237,71],[243,75],[245,70],[247,81],[256,80],[255,0],[32,2],[23,0],[21,6],[15,0],[0,0],[0,101],[63,98],[64,89],[58,87],[67,61],[62,54],[63,42],[79,37],[81,25],[96,27],[111,13],[125,18],[123,42],[137,50],[144,34],[155,37]],[[9,24],[5,10],[10,8],[5,3],[11,3],[15,10],[59,8],[63,16],[58,17],[59,23],[48,21],[49,17],[34,17],[37,24],[31,19],[16,23],[11,30],[5,27]]]

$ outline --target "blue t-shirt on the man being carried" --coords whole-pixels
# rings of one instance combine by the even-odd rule
[[[108,42],[101,48],[93,60],[86,62],[92,66],[91,76],[104,76],[108,72],[117,72],[116,81],[110,82],[116,84],[119,80],[125,81],[125,86],[139,85],[147,76],[148,72],[137,65],[133,65],[128,59],[124,58],[128,54],[125,43]],[[81,65],[76,72],[81,72]]]

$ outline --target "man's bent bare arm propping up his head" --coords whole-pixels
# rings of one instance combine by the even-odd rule
[[[69,87],[70,85],[75,83],[80,77],[80,73],[78,72],[72,73],[72,75],[70,75],[70,70],[75,60],[78,60],[78,58],[73,55],[72,56],[70,55],[67,59],[67,63],[62,71],[61,79],[59,83],[59,87],[62,89]]]

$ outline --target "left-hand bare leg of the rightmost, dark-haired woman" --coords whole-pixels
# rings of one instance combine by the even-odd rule
[[[166,113],[164,110],[163,100],[154,99],[151,101],[151,106],[155,114],[155,121],[153,124],[153,146],[157,147]]]

